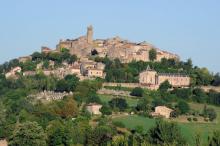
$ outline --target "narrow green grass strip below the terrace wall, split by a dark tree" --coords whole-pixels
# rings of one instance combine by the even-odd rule
[[[99,97],[101,101],[105,103],[108,103],[111,99],[116,98],[116,96],[114,95],[99,95]],[[130,107],[136,106],[139,100],[138,98],[132,98],[132,97],[121,97],[121,98],[125,98]]]

